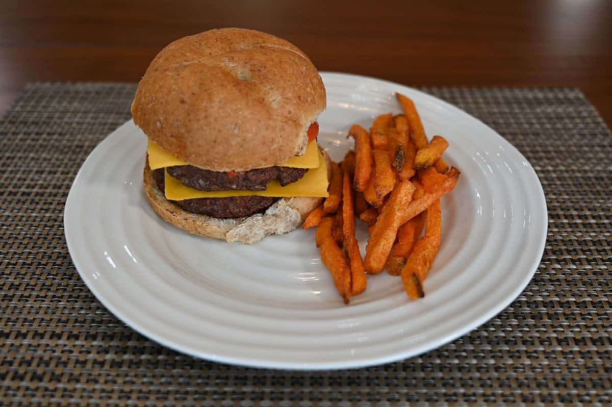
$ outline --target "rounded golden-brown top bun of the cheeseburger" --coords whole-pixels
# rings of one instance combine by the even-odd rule
[[[164,48],[138,84],[134,122],[162,149],[212,171],[246,171],[304,154],[326,106],[315,65],[259,31],[213,29]]]

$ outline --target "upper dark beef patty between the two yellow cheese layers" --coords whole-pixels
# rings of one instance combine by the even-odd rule
[[[168,167],[168,174],[182,182],[186,187],[201,191],[249,190],[263,191],[268,182],[278,179],[281,186],[298,181],[308,168],[271,166],[249,171],[225,173],[223,171],[202,170],[193,165]]]

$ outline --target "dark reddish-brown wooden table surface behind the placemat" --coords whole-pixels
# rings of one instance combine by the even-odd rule
[[[167,43],[239,26],[320,70],[411,86],[577,86],[612,124],[612,2],[0,0],[0,113],[29,81],[138,81]]]

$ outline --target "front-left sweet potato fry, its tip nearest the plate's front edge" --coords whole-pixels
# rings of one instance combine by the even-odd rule
[[[334,286],[345,304],[351,299],[351,270],[340,247],[332,238],[334,218],[326,216],[321,220],[316,230],[317,246],[321,248],[321,260],[327,266],[334,278]]]

